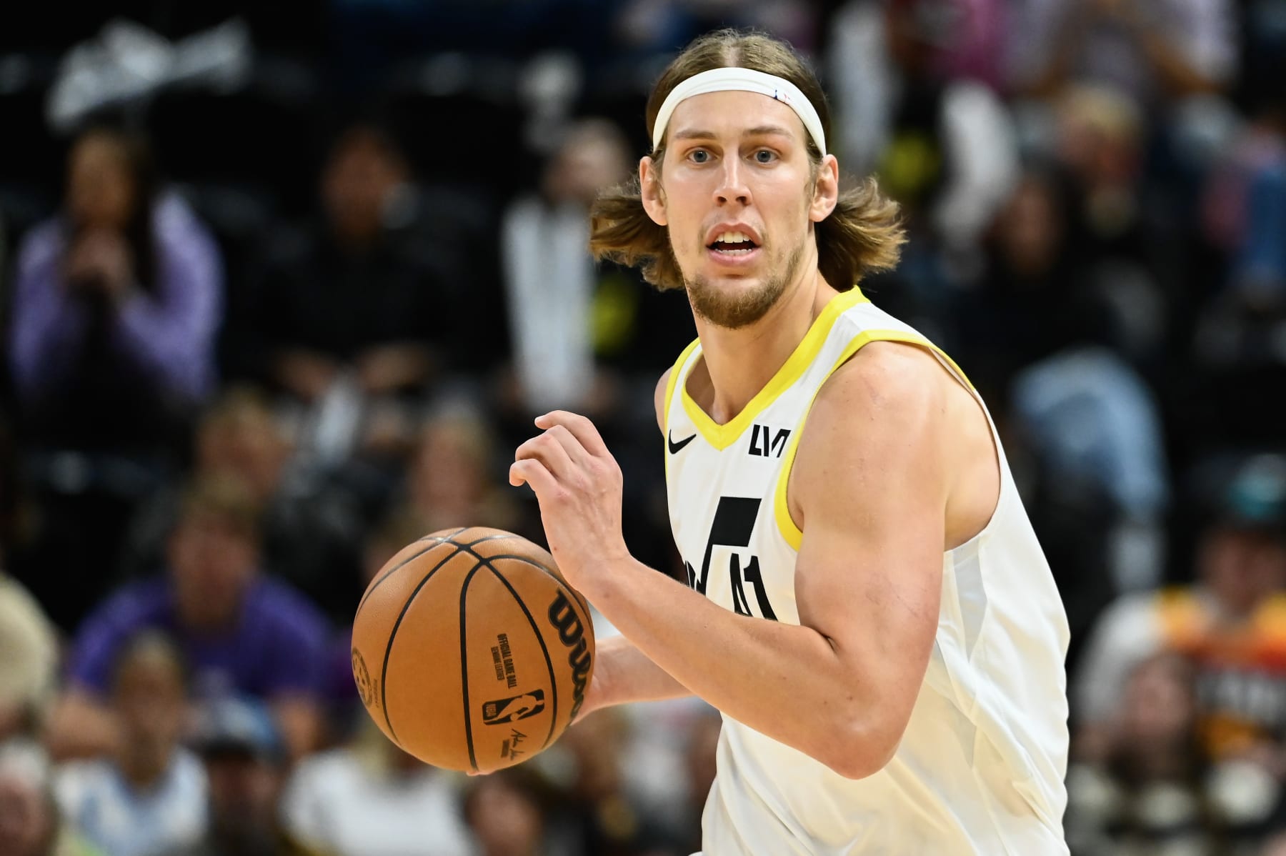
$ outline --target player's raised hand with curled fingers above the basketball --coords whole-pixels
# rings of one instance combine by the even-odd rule
[[[621,535],[621,468],[585,416],[556,410],[536,418],[538,437],[518,446],[509,483],[540,503],[549,551],[567,582],[584,590],[590,568],[629,558]]]

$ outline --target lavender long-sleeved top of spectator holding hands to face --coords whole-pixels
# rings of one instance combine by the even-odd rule
[[[130,297],[116,315],[112,344],[141,377],[189,401],[215,382],[213,341],[222,311],[222,263],[210,231],[188,206],[162,197],[153,215],[156,293]],[[10,362],[24,397],[55,384],[89,320],[67,293],[67,226],[50,220],[23,239],[13,296]]]

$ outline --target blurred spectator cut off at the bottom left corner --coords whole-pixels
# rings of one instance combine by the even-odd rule
[[[35,743],[0,743],[0,853],[107,856],[63,824],[50,792],[49,760]]]

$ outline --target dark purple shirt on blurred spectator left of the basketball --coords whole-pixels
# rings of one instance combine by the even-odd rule
[[[121,646],[140,630],[170,634],[186,658],[198,698],[229,693],[270,699],[319,695],[329,635],[325,620],[289,586],[260,577],[251,584],[240,620],[219,635],[193,634],[176,614],[168,577],[135,582],[99,607],[76,636],[71,676],[105,694]]]

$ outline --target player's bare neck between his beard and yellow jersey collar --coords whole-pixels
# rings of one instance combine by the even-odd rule
[[[811,269],[788,287],[764,317],[730,330],[697,317],[705,378],[693,377],[689,395],[719,424],[746,409],[768,386],[837,292]]]

